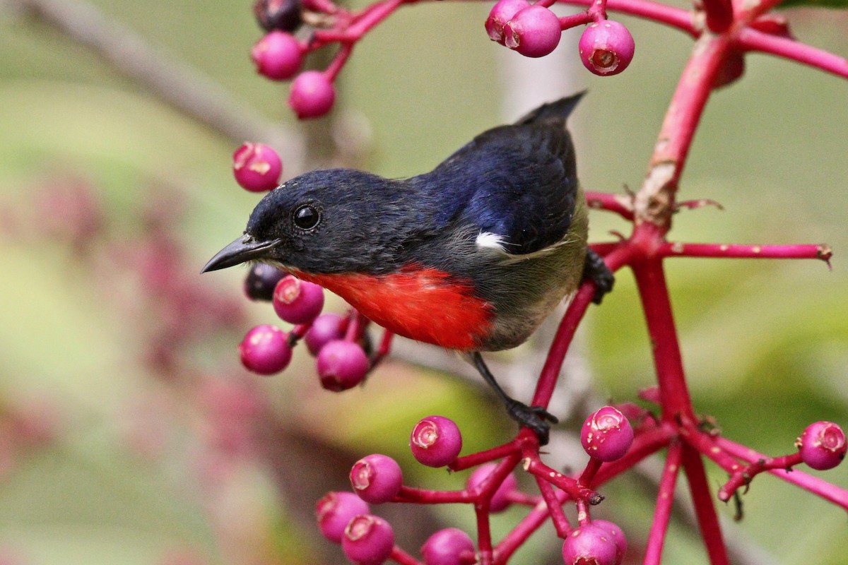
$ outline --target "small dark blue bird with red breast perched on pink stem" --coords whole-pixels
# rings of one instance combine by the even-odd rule
[[[544,444],[556,418],[507,396],[480,352],[522,344],[584,278],[613,276],[586,244],[586,199],[566,119],[579,93],[484,131],[429,173],[325,169],[287,180],[203,272],[270,263],[387,330],[466,352]]]

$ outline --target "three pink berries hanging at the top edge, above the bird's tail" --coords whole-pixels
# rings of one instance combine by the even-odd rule
[[[606,19],[602,8],[593,8],[560,18],[544,3],[500,0],[488,14],[486,31],[493,42],[526,57],[544,57],[560,43],[562,30],[589,24],[580,36],[580,60],[595,75],[617,75],[633,59],[633,36],[624,25]]]

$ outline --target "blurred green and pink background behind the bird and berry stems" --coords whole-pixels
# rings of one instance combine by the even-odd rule
[[[314,144],[311,163],[332,154],[333,124],[340,147],[355,147],[345,158],[387,176],[421,173],[514,118],[502,113],[504,60],[531,64],[488,42],[488,3],[404,8],[356,47],[332,118],[301,127],[286,86],[259,78],[248,59],[259,38],[248,2],[93,5],[104,25],[128,27],[268,123],[293,127]],[[845,14],[786,14],[801,40],[848,55]],[[583,184],[595,191],[638,189],[690,47],[676,31],[620,19],[637,42],[628,71],[573,77],[572,91],[589,88],[573,128]],[[318,388],[303,351],[284,374],[246,374],[234,344],[252,324],[272,323],[271,308],[243,300],[243,272],[198,275],[257,201],[232,181],[242,140],[172,108],[14,1],[0,4],[0,35],[0,562],[343,562],[310,512],[324,491],[345,488],[357,458],[385,452],[409,469],[411,485],[459,488],[464,475],[412,462],[405,445],[417,419],[455,418],[464,452],[508,439],[510,424],[476,386],[404,363],[344,395]],[[566,31],[551,57],[576,59],[578,35]],[[844,80],[750,56],[743,79],[711,98],[680,193],[724,211],[683,211],[672,231],[678,241],[834,248],[830,270],[812,261],[668,262],[697,409],[773,455],[791,451],[814,420],[848,425],[845,92]],[[627,225],[594,213],[592,239],[610,230]],[[600,402],[632,399],[652,383],[628,273],[587,328]],[[717,488],[722,474],[710,471]],[[822,475],[848,487],[846,468]],[[604,493],[605,517],[638,550],[650,487],[625,478]],[[845,562],[838,508],[766,476],[744,500],[734,533],[750,540],[746,562]],[[468,508],[379,510],[413,553],[439,523],[473,523]],[[756,547],[773,560],[756,561]],[[516,562],[558,562],[558,551],[546,526]],[[665,557],[706,562],[684,521]]]

